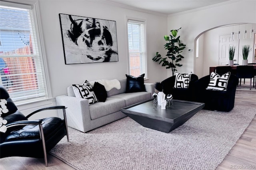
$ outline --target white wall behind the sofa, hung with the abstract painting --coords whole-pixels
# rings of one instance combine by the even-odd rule
[[[137,12],[106,2],[88,0],[39,0],[39,10],[53,98],[67,94],[68,86],[82,84],[85,80],[126,78],[125,74],[128,74],[126,17],[146,20],[148,68],[146,82],[155,83],[167,78],[166,69],[152,60],[157,51],[161,53],[164,51],[166,15]],[[65,65],[59,13],[116,21],[119,61]],[[25,105],[20,106],[19,109],[24,114],[28,114],[41,106],[55,105],[54,100],[52,104],[34,103],[30,104],[29,108]],[[57,115],[56,112],[52,114],[52,116]]]

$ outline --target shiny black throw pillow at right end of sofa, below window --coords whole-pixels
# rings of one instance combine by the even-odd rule
[[[144,76],[145,74],[138,77],[126,74],[126,93],[145,92]]]

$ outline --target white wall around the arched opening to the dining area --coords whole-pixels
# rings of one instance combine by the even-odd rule
[[[234,23],[256,23],[255,0],[231,1],[168,16],[168,30],[182,27],[179,33],[187,50],[194,48],[194,40],[205,31]],[[178,72],[194,72],[196,74],[195,53],[189,53],[187,50],[183,52],[183,56],[185,56],[182,60],[183,66],[178,68]],[[170,75],[169,72],[168,75]]]

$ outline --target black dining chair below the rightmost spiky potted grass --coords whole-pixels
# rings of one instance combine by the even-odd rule
[[[252,89],[252,78],[254,78],[254,66],[237,66],[236,76],[240,78],[240,86],[241,78],[250,78],[250,90]]]

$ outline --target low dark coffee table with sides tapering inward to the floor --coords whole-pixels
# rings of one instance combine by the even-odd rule
[[[121,111],[146,128],[169,133],[184,124],[204,103],[173,100],[173,106],[164,110],[153,108],[153,99],[122,108]]]

